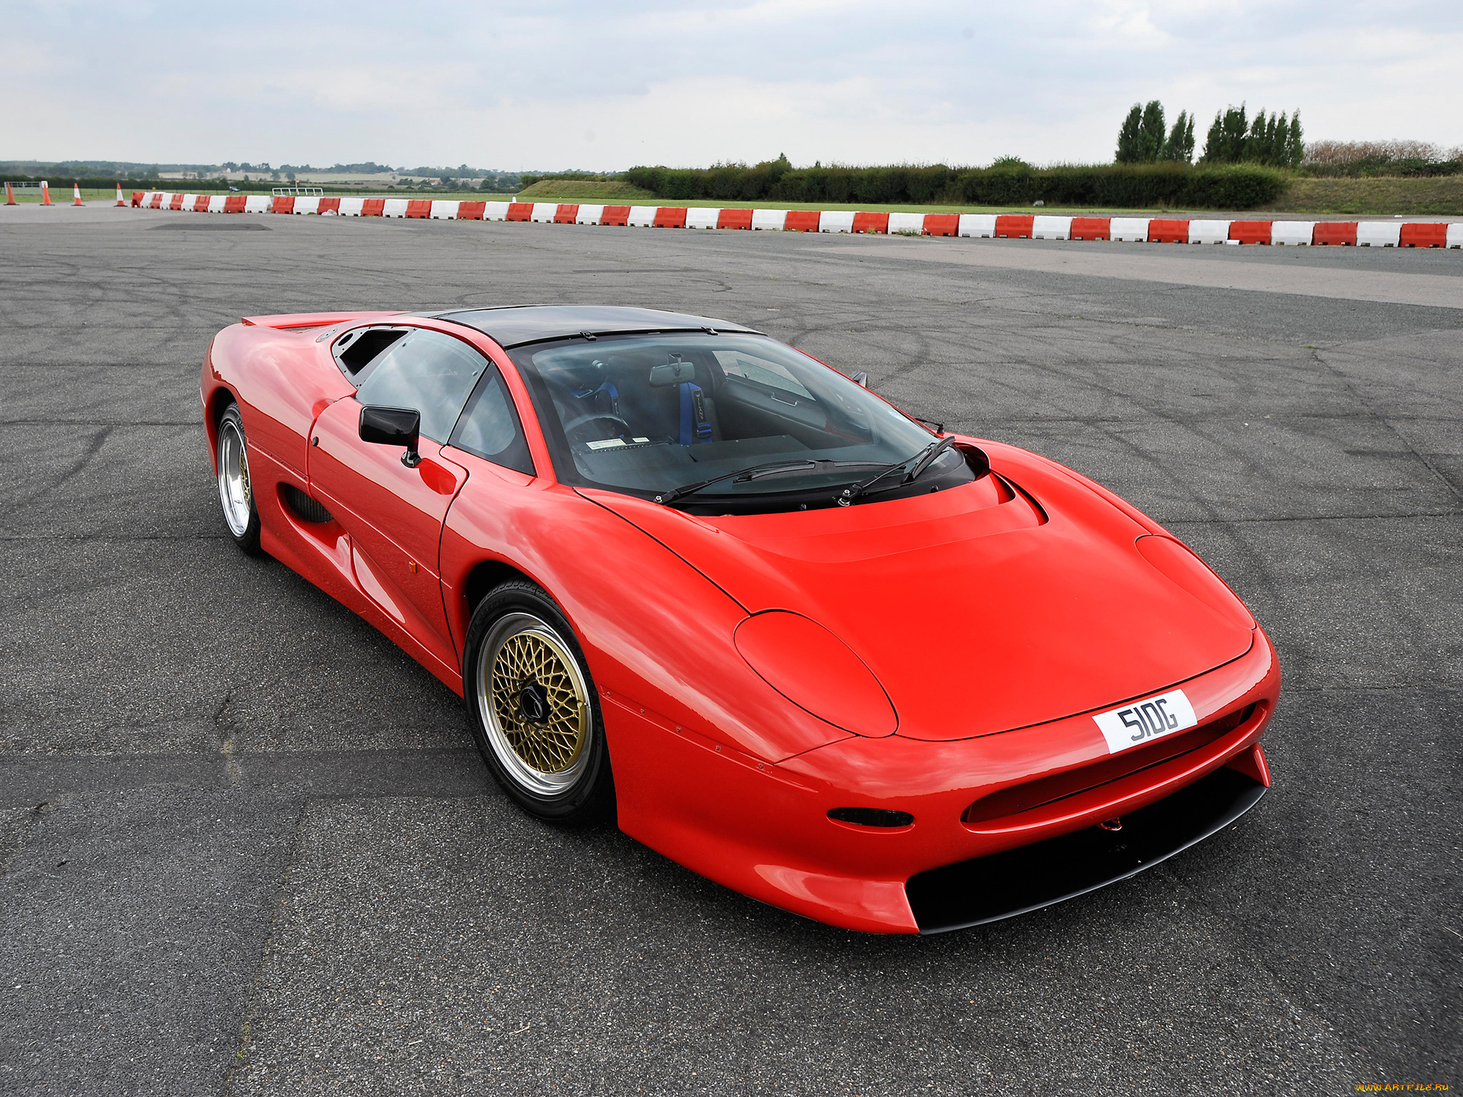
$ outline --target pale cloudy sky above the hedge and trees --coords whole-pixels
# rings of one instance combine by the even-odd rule
[[[0,159],[1107,162],[1137,101],[1463,145],[1459,0],[0,0]]]

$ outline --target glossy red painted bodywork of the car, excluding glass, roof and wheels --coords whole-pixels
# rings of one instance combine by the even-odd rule
[[[980,442],[998,475],[947,491],[695,518],[559,484],[508,355],[396,316],[499,366],[538,474],[426,439],[413,470],[360,442],[329,350],[389,316],[260,316],[215,336],[209,442],[234,396],[265,550],[458,693],[475,573],[549,591],[600,692],[620,826],[682,864],[838,926],[914,932],[913,873],[1094,825],[1222,765],[1268,783],[1268,639],[1160,527],[1078,474]],[[332,521],[298,519],[285,486]],[[1086,768],[1127,765],[1093,712],[1178,686],[1201,723],[1255,708],[1197,749],[1083,784]],[[977,799],[1046,778],[1078,791],[961,822]],[[916,822],[828,818],[847,806]]]

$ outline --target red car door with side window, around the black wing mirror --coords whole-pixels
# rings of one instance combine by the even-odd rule
[[[354,380],[354,398],[320,412],[310,446],[310,493],[345,527],[360,589],[432,657],[456,670],[442,607],[442,524],[468,472],[442,445],[490,363],[467,342],[429,329],[392,341]],[[366,405],[421,415],[421,461],[360,439]]]

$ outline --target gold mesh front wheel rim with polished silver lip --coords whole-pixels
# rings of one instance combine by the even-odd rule
[[[553,626],[528,613],[497,620],[478,649],[477,701],[493,753],[515,783],[553,796],[579,780],[590,690]]]

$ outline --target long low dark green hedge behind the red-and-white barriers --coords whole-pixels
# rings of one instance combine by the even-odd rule
[[[1113,164],[1031,168],[812,167],[786,161],[712,168],[638,167],[625,180],[670,200],[830,202],[865,205],[1026,206],[1192,206],[1249,209],[1276,200],[1286,174],[1248,164]]]

